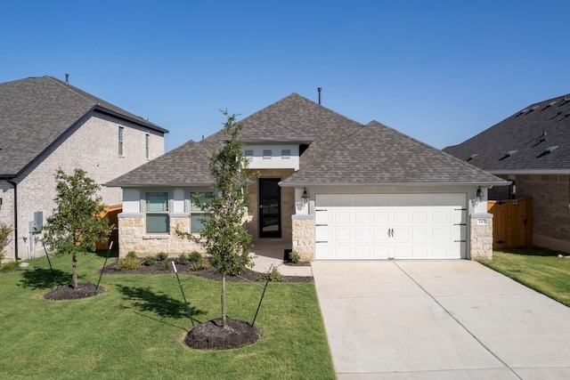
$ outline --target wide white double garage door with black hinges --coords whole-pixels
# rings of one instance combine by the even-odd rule
[[[465,258],[465,194],[317,194],[315,260]]]

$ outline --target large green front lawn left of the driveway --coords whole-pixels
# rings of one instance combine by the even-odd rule
[[[78,257],[79,282],[96,284],[104,258]],[[71,258],[52,258],[70,282]],[[181,275],[199,323],[219,317],[220,284]],[[228,317],[251,322],[261,283],[228,283]],[[0,273],[0,376],[11,379],[334,379],[314,284],[270,283],[256,319],[262,337],[237,350],[183,344],[191,319],[174,273],[103,275],[102,295],[48,301],[53,276],[45,257]]]

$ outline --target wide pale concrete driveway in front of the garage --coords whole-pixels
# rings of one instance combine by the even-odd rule
[[[570,378],[570,308],[480,263],[314,262],[313,273],[338,379]]]

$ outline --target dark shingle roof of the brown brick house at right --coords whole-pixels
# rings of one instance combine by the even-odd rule
[[[570,96],[531,104],[444,151],[497,174],[570,173]]]

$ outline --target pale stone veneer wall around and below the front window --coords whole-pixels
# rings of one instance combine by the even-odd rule
[[[118,238],[119,257],[125,257],[129,251],[136,252],[138,257],[157,255],[159,252],[170,256],[189,254],[192,251],[204,252],[199,244],[176,236],[176,229],[189,230],[188,216],[170,216],[169,234],[146,234],[144,216],[118,216],[118,227],[121,231]]]

